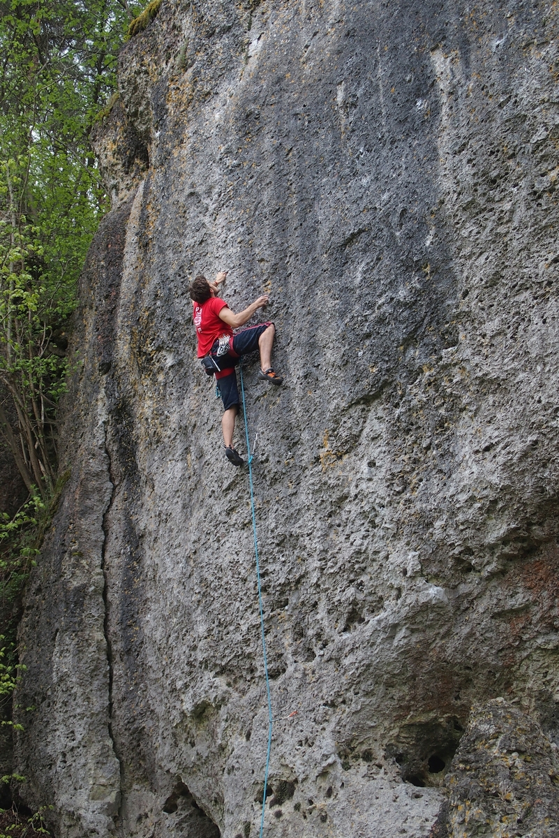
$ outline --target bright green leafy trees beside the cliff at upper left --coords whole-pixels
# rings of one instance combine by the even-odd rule
[[[90,150],[126,0],[0,0],[0,434],[48,491],[79,271],[108,204]]]

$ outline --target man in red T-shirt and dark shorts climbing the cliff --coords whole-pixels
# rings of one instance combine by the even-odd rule
[[[244,311],[235,314],[225,300],[218,297],[218,286],[225,282],[227,271],[218,272],[215,282],[208,282],[206,277],[196,277],[190,286],[192,297],[192,318],[198,339],[198,358],[206,370],[212,369],[218,380],[219,395],[223,401],[221,427],[225,456],[235,466],[242,466],[244,459],[233,448],[235,416],[238,413],[238,389],[235,365],[241,355],[259,349],[259,378],[271,384],[280,385],[283,381],[271,365],[272,344],[274,344],[274,323],[257,323],[233,334],[233,328],[244,326],[259,308],[268,303],[269,295],[254,300]]]

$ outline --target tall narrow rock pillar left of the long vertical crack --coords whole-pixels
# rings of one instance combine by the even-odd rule
[[[16,716],[25,730],[15,758],[18,773],[28,777],[20,796],[33,810],[52,804],[45,818],[65,838],[109,838],[121,811],[105,573],[117,482],[105,375],[113,362],[130,204],[103,220],[80,277],[72,344],[79,359],[70,364],[72,395],[60,412],[60,463],[71,476],[31,574],[19,629],[27,670],[18,687]],[[29,706],[36,709],[21,709]]]

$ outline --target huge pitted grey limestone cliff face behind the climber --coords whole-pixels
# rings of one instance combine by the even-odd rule
[[[122,49],[20,634],[21,794],[57,838],[259,835],[249,483],[200,272],[233,310],[269,292],[285,375],[244,369],[264,835],[467,835],[457,747],[510,758],[470,708],[557,741],[556,34],[551,2],[163,0]]]

